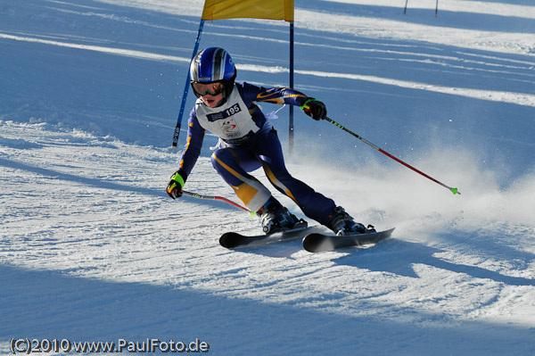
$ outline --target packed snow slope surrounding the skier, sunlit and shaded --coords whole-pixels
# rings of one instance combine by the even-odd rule
[[[430,0],[406,14],[402,0],[296,0],[295,87],[461,192],[296,110],[292,174],[397,228],[318,254],[227,251],[218,236],[258,233],[257,218],[165,195],[202,4],[0,0],[0,352],[158,338],[213,355],[535,354],[535,4],[450,0],[435,17]],[[238,80],[287,86],[288,38],[284,21],[213,21],[201,47],[225,47]],[[185,188],[235,200],[216,141]]]

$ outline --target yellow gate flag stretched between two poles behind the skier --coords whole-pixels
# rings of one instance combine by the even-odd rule
[[[293,0],[206,0],[202,20],[269,19],[293,21]]]

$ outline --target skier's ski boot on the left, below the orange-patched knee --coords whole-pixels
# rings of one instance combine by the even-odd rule
[[[273,197],[269,198],[268,203],[265,203],[257,214],[262,219],[262,229],[266,235],[292,228],[306,228],[308,226],[307,221],[297,219],[295,215],[290,213],[288,209]]]

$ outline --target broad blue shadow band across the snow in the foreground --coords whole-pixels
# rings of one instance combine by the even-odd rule
[[[199,338],[210,344],[210,354],[236,356],[535,351],[532,331],[507,325],[419,327],[8,264],[0,265],[0,275],[2,285],[9,286],[0,288],[0,317],[9,320],[0,327],[2,343],[12,337],[116,343],[119,338],[185,343]]]

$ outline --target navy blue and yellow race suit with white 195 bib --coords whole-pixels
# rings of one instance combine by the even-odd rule
[[[201,154],[208,129],[222,144],[211,156],[215,170],[233,187],[249,210],[259,211],[271,196],[268,188],[249,174],[262,167],[273,186],[292,198],[307,217],[327,224],[335,203],[290,175],[284,165],[276,130],[255,103],[300,106],[307,99],[306,95],[291,88],[266,88],[249,83],[235,83],[225,103],[215,108],[197,99],[190,113],[185,149],[178,163],[180,175],[186,179],[190,174]]]

